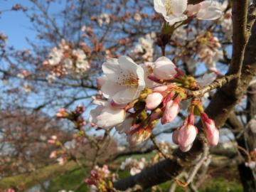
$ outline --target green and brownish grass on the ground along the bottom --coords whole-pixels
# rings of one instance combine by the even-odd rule
[[[146,159],[151,159],[154,156],[154,153],[150,154],[140,154],[130,156],[134,159],[141,159],[142,157]],[[128,156],[124,156],[117,161],[121,163],[126,159]],[[234,171],[234,170],[233,170]],[[229,174],[232,174],[232,172]],[[119,178],[126,178],[129,175],[129,171],[119,171]],[[38,169],[37,171],[31,174],[21,174],[18,176],[12,176],[8,178],[3,178],[0,181],[0,189],[9,188],[10,186],[17,186],[16,184],[20,184],[26,186],[26,188],[31,188],[38,184],[39,181],[50,181],[50,186],[47,192],[56,192],[62,189],[73,190],[78,192],[85,192],[87,191],[87,185],[83,182],[87,176],[90,175],[89,169],[80,169],[78,168],[75,162],[70,161],[68,164],[64,166],[59,166],[58,164],[53,164],[50,166],[46,166],[42,169]],[[228,178],[228,177],[227,177]],[[161,188],[161,192],[169,191],[171,186],[171,181],[167,181],[166,183],[161,183],[159,187]],[[76,189],[76,190],[75,190]],[[0,190],[1,191],[1,190]],[[150,191],[146,190],[146,191]],[[177,187],[176,192],[183,192],[185,191],[184,188]],[[233,180],[228,181],[228,179],[222,177],[218,178],[209,178],[201,188],[199,189],[200,192],[242,192],[242,186],[239,181]]]

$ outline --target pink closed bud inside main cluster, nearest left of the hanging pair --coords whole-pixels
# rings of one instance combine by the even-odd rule
[[[161,124],[172,122],[180,110],[178,103],[174,102],[174,100],[170,100],[169,102],[167,102],[166,107],[164,108],[164,115],[161,118]]]

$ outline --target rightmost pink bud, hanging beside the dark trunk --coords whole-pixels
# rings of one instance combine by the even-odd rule
[[[219,140],[219,130],[215,126],[215,122],[213,119],[210,119],[206,113],[201,114],[201,119],[203,121],[204,133],[206,135],[206,139],[208,144],[217,145]]]

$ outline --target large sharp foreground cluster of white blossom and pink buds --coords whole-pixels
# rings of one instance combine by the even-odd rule
[[[159,121],[173,122],[181,101],[188,99],[188,90],[200,88],[193,77],[186,76],[166,57],[150,65],[137,65],[132,58],[121,56],[107,60],[102,70],[102,95],[110,101],[94,100],[97,108],[91,110],[90,122],[102,129],[115,127],[119,133],[127,134],[131,145],[146,141]],[[174,137],[181,150],[188,151],[196,138],[194,115],[201,117],[209,144],[217,144],[218,129],[203,112],[200,98],[191,100],[188,113],[183,126],[176,131],[178,137]]]

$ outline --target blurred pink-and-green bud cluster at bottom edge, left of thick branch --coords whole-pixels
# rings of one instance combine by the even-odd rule
[[[115,175],[110,173],[107,165],[103,165],[102,168],[95,166],[90,172],[90,177],[85,179],[85,183],[90,186],[95,186],[98,191],[111,191],[113,188],[112,181],[114,181]]]

